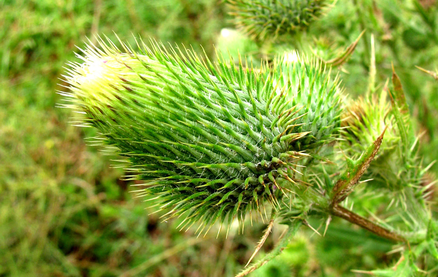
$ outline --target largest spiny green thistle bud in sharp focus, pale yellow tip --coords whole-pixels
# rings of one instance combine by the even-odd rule
[[[156,195],[167,217],[185,214],[182,227],[203,221],[200,230],[208,231],[217,220],[242,222],[265,202],[276,209],[297,185],[296,161],[307,155],[294,148],[308,135],[295,131],[307,124],[298,114],[303,105],[279,92],[270,75],[157,43],[142,43],[141,53],[99,44],[82,50],[83,64],[70,64],[71,92],[62,94],[73,104],[65,106],[120,149],[130,177],[146,180],[138,193]],[[321,88],[302,89],[326,86],[314,85]]]

